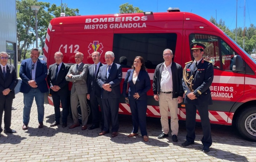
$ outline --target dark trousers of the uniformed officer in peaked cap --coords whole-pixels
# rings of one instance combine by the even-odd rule
[[[186,103],[185,106],[187,141],[194,142],[195,140],[195,117],[196,110],[198,110],[203,130],[202,144],[206,147],[210,147],[213,141],[211,138],[211,125],[209,120],[208,105],[192,105]]]

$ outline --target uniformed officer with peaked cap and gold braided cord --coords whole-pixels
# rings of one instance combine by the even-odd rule
[[[209,120],[208,105],[212,105],[211,91],[209,87],[213,82],[213,64],[202,59],[204,49],[201,43],[192,43],[190,48],[193,52],[194,61],[186,63],[183,70],[183,89],[185,91],[186,106],[186,141],[182,146],[194,144],[195,140],[195,117],[198,110],[203,130],[202,152],[209,152],[212,144],[211,125]]]

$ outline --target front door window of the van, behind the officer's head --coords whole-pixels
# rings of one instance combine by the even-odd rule
[[[214,68],[221,69],[221,67],[224,66],[220,57],[218,37],[215,37],[213,35],[190,34],[189,39],[190,44],[198,42],[206,46],[206,49],[204,49],[203,58],[206,61],[212,62]],[[193,58],[192,51],[191,57]]]

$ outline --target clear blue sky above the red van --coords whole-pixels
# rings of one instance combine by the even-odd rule
[[[61,0],[38,0],[61,5]],[[229,29],[235,29],[236,3],[237,27],[244,27],[244,0],[62,0],[69,8],[78,8],[80,15],[117,14],[119,5],[132,4],[143,11],[166,12],[168,7],[179,7],[209,20],[211,16],[225,21]],[[246,27],[256,25],[256,0],[246,0]]]

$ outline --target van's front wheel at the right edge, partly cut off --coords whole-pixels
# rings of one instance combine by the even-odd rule
[[[246,140],[256,142],[256,106],[248,106],[240,112],[236,121],[237,129]]]

